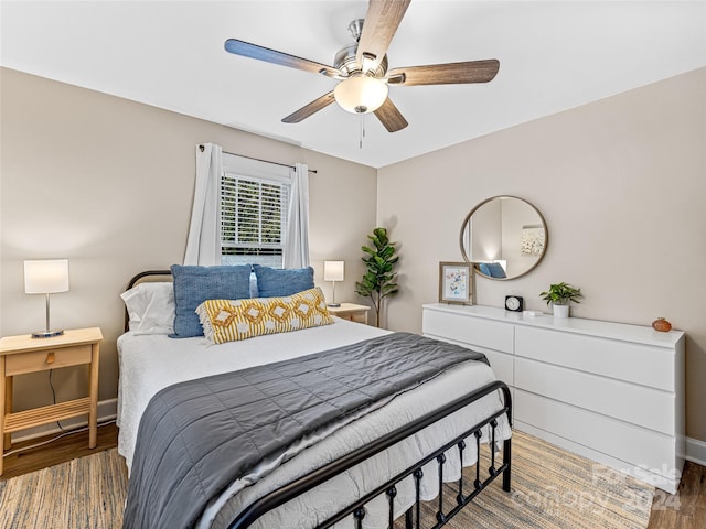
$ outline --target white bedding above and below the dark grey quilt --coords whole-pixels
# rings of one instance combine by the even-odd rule
[[[120,363],[118,451],[126,458],[130,469],[140,417],[151,397],[167,386],[216,373],[295,358],[386,333],[386,331],[340,319],[335,319],[333,325],[222,345],[212,345],[203,337],[174,339],[163,335],[135,336],[126,333],[118,338]],[[425,384],[424,391],[417,389],[403,393],[384,408],[360,418],[344,429],[324,439],[317,439],[318,442],[313,446],[304,447],[297,457],[281,466],[278,462],[264,462],[253,475],[235,482],[229,490],[212,503],[199,527],[227,527],[234,512],[238,512],[267,492],[446,402],[451,402],[468,393],[471,388],[481,387],[494,378],[492,369],[482,363],[462,365]],[[257,527],[313,527],[349,505],[350,498],[357,497],[361,490],[372,488],[377,479],[388,474],[389,467],[397,472],[402,471],[431,452],[432,447],[441,444],[441,441],[459,435],[464,429],[480,422],[501,406],[501,400],[495,393],[489,395],[473,406],[445,418],[414,439],[400,443],[400,450],[386,451],[374,461],[365,462],[323,487],[302,495],[287,504],[286,511],[277,509],[266,515]],[[503,417],[499,422],[498,439],[509,438],[511,432],[505,418]],[[474,441],[469,440],[467,444],[463,466],[474,464],[477,458]],[[458,479],[460,475],[458,450],[449,451],[447,457],[449,461],[445,466],[446,481]],[[435,466],[426,472],[422,482],[425,499],[431,499],[438,493],[436,463],[431,464]],[[267,478],[260,479],[260,474],[270,467],[277,468]],[[385,472],[381,471],[383,468]],[[396,511],[402,514],[414,501],[414,485],[408,479],[405,484],[398,485],[397,489],[395,506]],[[366,506],[368,516],[364,520],[364,527],[386,527],[386,498],[381,497]],[[313,508],[313,505],[317,505],[317,508]],[[377,511],[379,512],[376,515]],[[349,518],[336,527],[353,527],[352,522]]]

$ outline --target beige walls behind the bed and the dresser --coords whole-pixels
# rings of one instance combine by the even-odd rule
[[[479,278],[481,304],[506,293],[546,310],[549,282],[580,285],[577,316],[688,334],[687,433],[706,440],[706,71],[697,71],[375,171],[312,151],[104,94],[2,69],[0,334],[43,326],[43,299],[22,292],[22,260],[68,257],[72,290],[53,296],[53,322],[100,325],[100,398],[115,397],[118,298],[131,274],[181,262],[194,147],[318,170],[310,176],[311,259],[344,259],[353,293],[360,247],[375,225],[402,255],[388,326],[418,332],[437,300],[438,262],[460,260],[460,224],[478,202],[513,194],[549,227],[545,260],[510,282]],[[430,131],[432,133],[432,131]],[[377,208],[376,208],[377,193]],[[377,219],[376,219],[377,215]],[[323,285],[330,292],[330,285]],[[55,374],[60,399],[81,377]],[[45,376],[18,380],[20,408],[46,404]]]

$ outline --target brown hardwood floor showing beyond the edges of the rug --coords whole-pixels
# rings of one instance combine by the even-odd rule
[[[12,449],[35,444],[41,440],[17,443]],[[118,444],[115,424],[98,428],[98,445],[88,449],[88,432],[67,435],[41,447],[9,455],[4,458],[4,473],[0,479],[90,455]],[[674,496],[657,489],[652,505],[648,529],[704,529],[706,528],[706,467],[686,462],[678,493]]]

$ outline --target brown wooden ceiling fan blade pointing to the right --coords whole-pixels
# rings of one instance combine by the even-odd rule
[[[499,68],[500,62],[491,58],[393,68],[387,73],[387,77],[389,84],[406,86],[488,83],[493,80]]]

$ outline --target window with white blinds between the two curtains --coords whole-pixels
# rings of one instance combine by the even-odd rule
[[[291,177],[277,164],[223,155],[221,260],[282,268]]]

